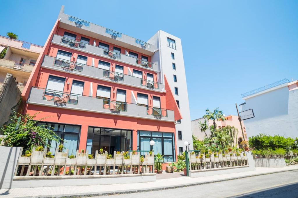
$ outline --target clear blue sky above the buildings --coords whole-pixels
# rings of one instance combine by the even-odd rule
[[[44,45],[62,4],[141,40],[180,37],[191,119],[216,107],[235,115],[242,93],[298,78],[298,1],[3,1],[0,35]]]

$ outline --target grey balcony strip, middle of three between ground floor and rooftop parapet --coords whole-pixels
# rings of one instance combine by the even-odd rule
[[[131,87],[164,92],[164,85],[161,83],[156,83],[150,80],[141,79],[131,75],[125,75],[105,69],[100,69],[94,66],[82,65],[72,61],[66,61],[63,59],[55,58],[52,56],[44,56],[42,67],[58,70],[61,72],[72,73],[75,75],[90,77],[94,79],[104,80],[108,82],[114,82],[122,85],[128,85]]]

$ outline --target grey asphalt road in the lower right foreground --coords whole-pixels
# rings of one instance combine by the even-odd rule
[[[298,197],[298,170],[222,181],[163,191],[100,196],[99,198],[139,197]]]

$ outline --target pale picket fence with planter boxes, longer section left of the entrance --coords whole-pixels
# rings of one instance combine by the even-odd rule
[[[145,174],[154,172],[154,153],[146,154],[144,161],[140,160],[140,154],[129,153],[129,159],[124,159],[124,152],[116,154],[112,159],[107,159],[107,151],[98,153],[96,151],[94,159],[88,159],[86,153],[76,152],[75,158],[68,158],[66,152],[55,151],[53,158],[46,157],[44,151],[32,149],[30,157],[21,156],[21,149],[15,176],[54,176],[54,175],[119,175],[119,174]],[[27,170],[25,171],[25,169]]]

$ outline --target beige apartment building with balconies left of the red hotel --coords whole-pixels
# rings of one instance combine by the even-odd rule
[[[11,73],[19,89],[23,91],[42,48],[39,45],[0,36],[0,54],[6,50],[4,58],[0,59],[0,88],[6,74]]]

